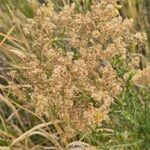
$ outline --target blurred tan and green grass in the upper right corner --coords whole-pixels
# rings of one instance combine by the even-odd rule
[[[150,1],[149,0],[125,0],[122,2],[122,13],[126,17],[134,19],[137,30],[142,30],[147,36],[145,55],[150,60]]]

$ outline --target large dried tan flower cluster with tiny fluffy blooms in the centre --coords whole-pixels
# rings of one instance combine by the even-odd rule
[[[126,58],[139,39],[133,21],[120,16],[117,0],[94,1],[83,13],[74,3],[59,12],[49,4],[28,22],[24,31],[32,38],[32,50],[20,60],[17,78],[30,85],[28,95],[19,91],[31,98],[35,112],[60,119],[70,134],[106,120],[123,86],[110,60]]]

